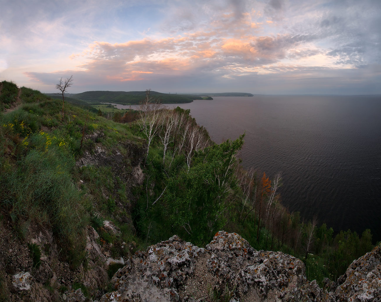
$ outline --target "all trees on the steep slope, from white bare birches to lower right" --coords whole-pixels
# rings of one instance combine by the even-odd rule
[[[371,249],[369,230],[361,238],[349,230],[334,237],[332,228],[318,227],[317,219],[305,221],[299,212],[288,212],[279,194],[280,173],[270,180],[265,173],[240,166],[237,154],[244,135],[214,144],[189,110],[167,109],[150,98],[149,90],[134,114],[131,123],[147,138],[146,196],[135,217],[147,239],[176,233],[203,245],[218,230],[237,231],[256,249],[293,254],[307,268],[319,259],[322,276],[331,279]],[[156,163],[149,157],[153,146],[155,156],[162,156]]]

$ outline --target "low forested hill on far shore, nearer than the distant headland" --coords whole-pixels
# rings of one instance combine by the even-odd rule
[[[196,95],[176,95],[151,91],[150,96],[159,100],[163,104],[191,103],[193,100],[202,100]],[[94,103],[118,103],[118,104],[139,104],[146,98],[145,91],[86,91],[71,96],[78,100],[90,101]]]

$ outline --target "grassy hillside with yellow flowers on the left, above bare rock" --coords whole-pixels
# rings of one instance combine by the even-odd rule
[[[104,233],[106,242],[114,243],[115,249],[123,241],[135,241],[139,247],[131,218],[129,223],[122,223],[131,217],[126,212],[131,193],[119,171],[107,163],[78,169],[75,162],[85,150],[92,152],[95,144],[107,154],[115,150],[126,154],[126,145],[120,142],[132,140],[141,148],[142,140],[125,125],[91,112],[87,116],[87,110],[66,102],[70,120],[65,115],[62,121],[60,100],[30,88],[22,87],[21,91],[20,108],[0,113],[0,219],[9,219],[20,238],[31,222],[50,226],[67,259],[76,265],[86,256],[86,226],[99,227],[96,212],[101,219],[114,221],[122,231],[118,238]],[[85,139],[80,149],[82,133]],[[94,133],[99,134],[95,142],[86,138]],[[123,165],[129,169],[128,162]],[[119,248],[115,257],[129,253],[128,248]]]

